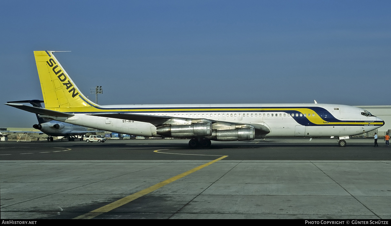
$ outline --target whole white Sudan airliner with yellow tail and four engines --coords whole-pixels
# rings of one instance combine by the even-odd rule
[[[384,121],[339,104],[147,104],[98,105],[81,93],[56,51],[34,51],[45,108],[7,103],[42,118],[104,131],[158,138],[188,138],[191,148],[213,141],[256,138],[337,138],[372,131]]]

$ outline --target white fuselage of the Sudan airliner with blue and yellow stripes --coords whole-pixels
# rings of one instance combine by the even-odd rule
[[[177,118],[206,118],[237,124],[259,124],[270,132],[262,137],[342,137],[361,134],[384,124],[364,109],[335,104],[191,104],[191,105],[106,105],[96,112],[121,112]],[[104,131],[159,137],[147,122],[74,113],[70,118],[54,118]],[[213,129],[213,125],[212,125]],[[260,138],[259,136],[257,138]]]

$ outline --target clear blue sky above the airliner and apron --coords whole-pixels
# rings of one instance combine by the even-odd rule
[[[2,101],[43,99],[34,50],[99,104],[391,105],[390,1],[0,2]],[[35,115],[0,106],[0,127]]]

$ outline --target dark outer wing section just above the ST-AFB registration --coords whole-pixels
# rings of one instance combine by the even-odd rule
[[[93,113],[88,114],[99,117],[107,117],[107,118],[118,118],[125,120],[134,120],[138,122],[148,122],[152,125],[161,125],[167,120],[171,119],[170,116],[164,115],[137,115],[137,114],[123,114],[123,113]]]

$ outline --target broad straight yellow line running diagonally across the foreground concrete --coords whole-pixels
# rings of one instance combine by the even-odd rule
[[[131,202],[131,201],[133,201],[133,200],[135,200],[137,198],[140,198],[140,197],[142,197],[142,196],[144,196],[144,195],[146,195],[146,194],[148,194],[148,193],[150,193],[152,191],[155,191],[156,189],[159,189],[159,188],[163,187],[164,185],[170,184],[171,182],[174,182],[175,180],[178,180],[178,179],[180,179],[182,177],[185,177],[185,176],[189,175],[190,173],[194,173],[195,171],[197,171],[199,169],[202,169],[202,168],[204,168],[206,166],[209,166],[210,164],[215,163],[215,162],[217,162],[217,161],[219,161],[221,159],[224,159],[225,157],[228,157],[228,155],[224,155],[224,156],[222,156],[222,157],[220,157],[218,159],[210,161],[210,162],[208,162],[206,164],[203,164],[201,166],[198,166],[198,167],[196,167],[194,169],[190,169],[189,171],[186,171],[185,173],[181,173],[179,175],[176,175],[175,177],[171,177],[171,178],[169,178],[169,179],[167,179],[165,181],[162,181],[162,182],[160,182],[158,184],[152,185],[151,187],[148,187],[148,188],[146,188],[146,189],[144,189],[142,191],[136,192],[135,194],[131,194],[129,196],[126,196],[125,198],[122,198],[120,200],[112,202],[112,203],[110,203],[108,205],[105,205],[103,207],[97,208],[96,210],[92,210],[91,212],[88,212],[86,214],[83,214],[83,215],[80,215],[78,217],[75,217],[74,219],[92,219],[94,217],[99,216],[100,214],[107,213],[110,210],[113,210],[113,209],[118,208],[118,207],[120,207],[122,205],[125,205],[126,203],[129,203],[129,202]]]

